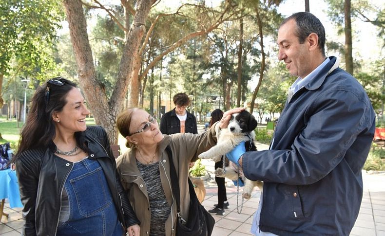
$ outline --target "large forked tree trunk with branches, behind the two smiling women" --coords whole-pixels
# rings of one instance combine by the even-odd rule
[[[136,1],[136,9],[131,6],[132,1],[121,1],[123,7],[126,8],[125,18],[128,16],[128,12],[134,15],[131,23],[131,28],[125,28],[125,24],[120,22],[118,14],[99,1],[94,0],[95,4],[88,4],[81,2],[80,0],[64,0],[64,6],[66,9],[67,20],[70,26],[70,36],[74,47],[74,53],[77,60],[78,74],[80,78],[80,86],[84,90],[86,99],[92,110],[96,124],[100,124],[106,128],[108,136],[113,144],[117,143],[117,130],[115,125],[116,115],[123,108],[123,97],[126,91],[129,91],[128,106],[138,106],[140,81],[146,77],[151,69],[161,61],[161,59],[173,52],[176,48],[186,43],[189,39],[205,35],[213,29],[217,28],[222,22],[231,19],[232,14],[228,14],[232,5],[226,1],[221,11],[216,11],[211,8],[207,8],[204,5],[185,4],[188,8],[197,9],[205,14],[205,17],[201,18],[199,22],[199,29],[193,33],[182,36],[178,40],[167,46],[161,53],[153,57],[152,61],[141,70],[142,62],[146,61],[143,56],[147,50],[149,38],[151,37],[154,26],[160,18],[166,16],[183,16],[184,18],[191,18],[190,15],[184,15],[180,12],[179,8],[176,13],[163,14],[159,13],[156,17],[151,18],[151,25],[148,31],[146,31],[146,22],[148,19],[151,6],[156,0],[138,0]],[[99,8],[105,10],[108,15],[114,20],[118,27],[125,32],[126,40],[124,41],[124,48],[122,50],[122,56],[119,64],[119,72],[116,76],[116,83],[114,90],[112,91],[111,98],[106,96],[106,91],[102,83],[96,78],[95,65],[93,64],[93,54],[87,35],[86,19],[83,13],[82,3],[89,8]],[[156,15],[156,14],[155,14]],[[186,20],[185,20],[186,21]],[[188,21],[186,21],[188,22]],[[173,22],[171,22],[173,23]],[[145,36],[145,37],[143,37]]]

